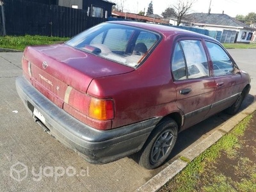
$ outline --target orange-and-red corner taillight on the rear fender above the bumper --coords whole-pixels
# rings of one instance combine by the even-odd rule
[[[91,118],[97,120],[111,120],[114,118],[114,104],[110,99],[97,99],[91,97],[89,104],[89,114]]]

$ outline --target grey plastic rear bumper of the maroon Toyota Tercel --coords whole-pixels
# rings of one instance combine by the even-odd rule
[[[33,116],[34,108],[44,116],[43,126],[61,143],[82,154],[89,163],[103,164],[138,152],[161,118],[152,118],[132,125],[99,131],[83,124],[58,108],[38,92],[24,77],[16,79],[20,99]],[[42,122],[40,122],[42,125]]]

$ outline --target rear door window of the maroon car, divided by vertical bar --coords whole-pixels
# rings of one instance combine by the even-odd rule
[[[172,59],[175,80],[209,77],[207,57],[200,40],[180,40]]]

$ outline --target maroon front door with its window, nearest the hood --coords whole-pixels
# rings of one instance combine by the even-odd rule
[[[231,106],[240,94],[241,74],[232,58],[214,42],[206,41],[205,45],[211,56],[216,92],[212,108],[207,116],[214,115]]]

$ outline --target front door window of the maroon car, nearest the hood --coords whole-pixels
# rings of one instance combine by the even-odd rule
[[[227,76],[234,72],[234,65],[228,54],[218,44],[205,42],[211,55],[214,76]]]

